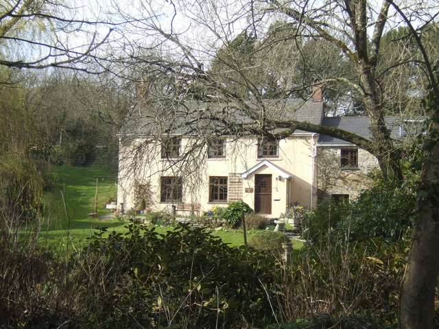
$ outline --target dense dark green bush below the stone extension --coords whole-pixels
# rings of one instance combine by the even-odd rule
[[[403,182],[384,180],[375,175],[375,182],[354,202],[328,202],[309,212],[305,232],[309,239],[320,234],[401,239],[412,226],[416,208],[418,173],[406,171]]]

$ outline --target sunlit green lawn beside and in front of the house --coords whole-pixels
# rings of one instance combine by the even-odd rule
[[[116,195],[115,173],[108,169],[95,167],[54,167],[54,187],[45,192],[45,221],[40,230],[40,239],[51,245],[66,245],[67,241],[74,244],[85,243],[86,238],[95,232],[95,228],[105,226],[109,231],[126,232],[126,223],[120,219],[99,219],[88,216],[95,212],[95,176],[112,176],[99,178],[98,217],[110,213],[105,204]],[[27,228],[23,228],[26,230]],[[158,227],[158,232],[172,230],[171,227]],[[257,232],[250,230],[247,240]],[[242,230],[215,230],[215,236],[231,246],[244,245]],[[292,241],[294,249],[300,249],[300,241]]]

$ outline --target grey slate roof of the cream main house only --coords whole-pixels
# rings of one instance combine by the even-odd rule
[[[178,104],[155,103],[153,106],[134,108],[131,117],[126,120],[120,132],[122,135],[156,136],[157,132],[175,135],[195,135],[199,132],[223,132],[230,126],[245,132],[246,127],[257,127],[265,116],[275,120],[296,120],[320,124],[323,118],[323,103],[302,99],[264,100],[263,106],[255,101],[246,101],[248,108],[243,109],[233,103],[182,101]],[[215,118],[215,121],[213,120]],[[254,118],[254,119],[251,119]],[[220,120],[218,120],[220,119]],[[277,132],[276,130],[274,132]],[[297,133],[306,133],[297,130]]]

